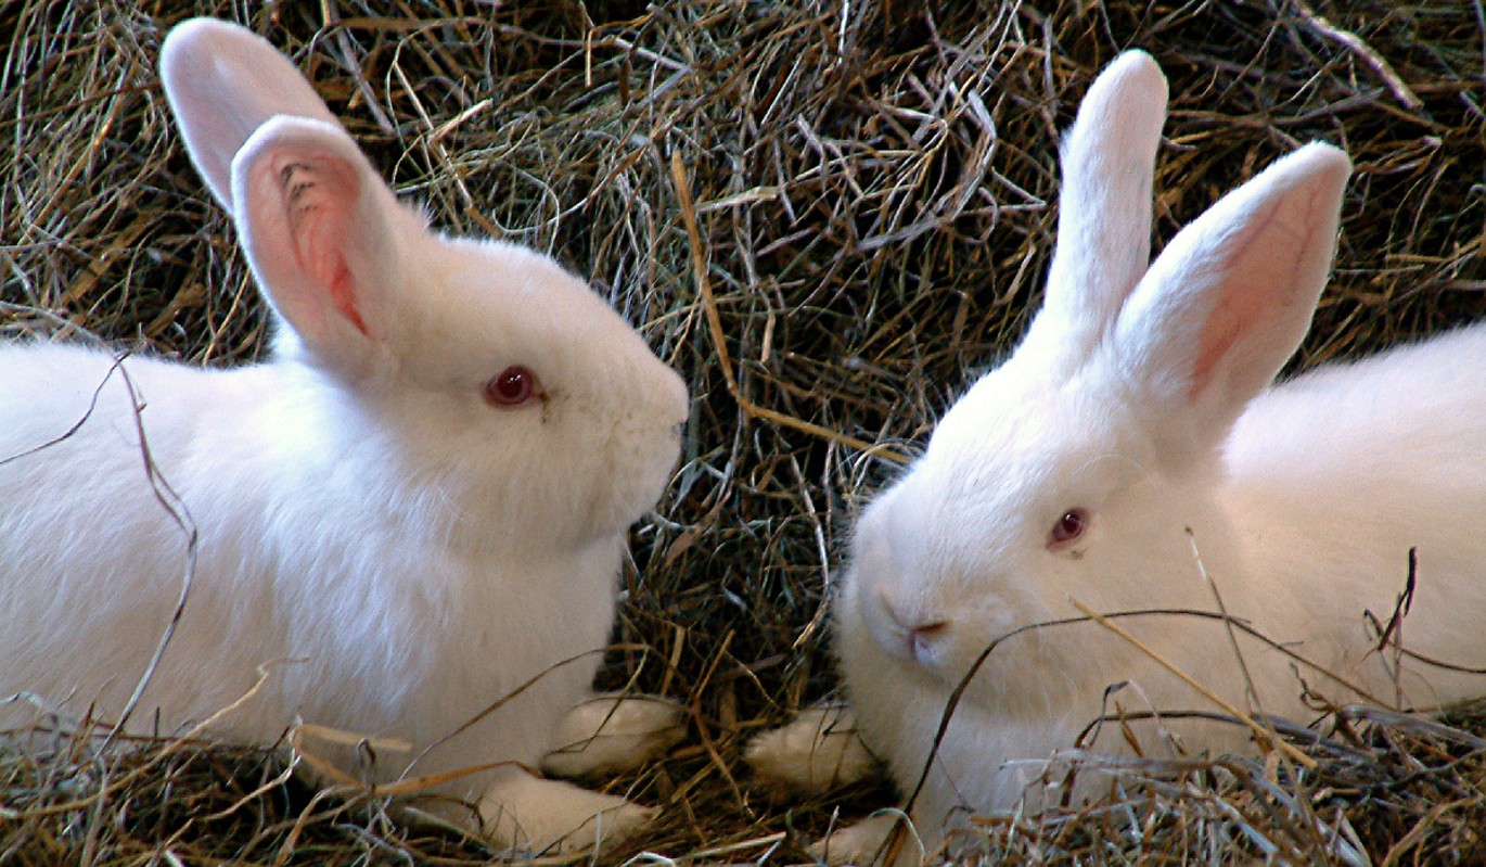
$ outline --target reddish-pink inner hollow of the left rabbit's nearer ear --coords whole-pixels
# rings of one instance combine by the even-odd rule
[[[275,170],[284,190],[296,263],[325,287],[336,309],[366,335],[367,324],[357,309],[357,289],[346,263],[352,210],[360,192],[355,170],[339,161],[291,159]]]

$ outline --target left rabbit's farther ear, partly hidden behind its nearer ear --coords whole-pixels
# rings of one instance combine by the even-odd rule
[[[160,82],[196,171],[232,211],[232,158],[275,115],[337,123],[299,68],[250,30],[193,18],[160,46]]]

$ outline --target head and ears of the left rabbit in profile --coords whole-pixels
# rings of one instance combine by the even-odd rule
[[[429,232],[266,40],[190,21],[160,68],[276,363],[331,396],[285,424],[377,455],[386,483],[363,483],[453,544],[581,546],[654,504],[685,387],[602,297],[539,253]]]

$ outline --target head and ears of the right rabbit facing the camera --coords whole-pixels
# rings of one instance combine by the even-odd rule
[[[837,610],[853,694],[877,689],[883,663],[945,694],[997,636],[1076,617],[1070,596],[1211,607],[1187,528],[1205,556],[1238,562],[1214,494],[1223,442],[1306,332],[1351,165],[1300,149],[1147,268],[1165,101],[1141,52],[1098,77],[1062,147],[1040,312],[860,518]],[[1119,677],[1122,653],[1092,626],[1034,629],[990,654],[966,699],[1064,714],[1070,690]]]

